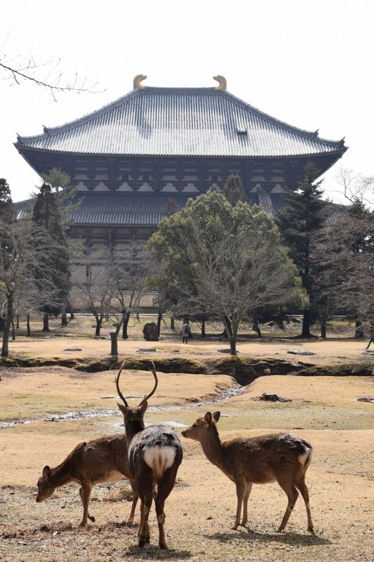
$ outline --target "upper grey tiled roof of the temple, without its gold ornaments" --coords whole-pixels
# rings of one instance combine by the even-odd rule
[[[16,146],[76,154],[276,157],[342,153],[214,88],[135,89],[74,122],[18,137]]]

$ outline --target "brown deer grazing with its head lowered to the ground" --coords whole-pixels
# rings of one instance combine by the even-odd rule
[[[128,518],[128,522],[133,523],[138,491],[134,487],[133,478],[128,471],[127,439],[123,434],[79,443],[65,461],[54,469],[44,466],[38,481],[36,502],[44,502],[45,499],[51,497],[56,488],[69,482],[79,483],[81,485],[79,495],[84,508],[80,526],[84,527],[87,524],[87,518],[95,521],[95,517],[88,514],[92,488],[96,484],[117,481],[123,476],[128,478],[133,489],[133,505]]]

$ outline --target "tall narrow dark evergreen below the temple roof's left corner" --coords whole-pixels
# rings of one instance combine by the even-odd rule
[[[60,211],[56,194],[51,185],[44,183],[34,204],[32,220],[38,226],[46,229],[55,242],[55,251],[48,256],[48,268],[46,275],[53,287],[53,291],[45,295],[45,303],[42,307],[44,312],[44,331],[48,331],[48,314],[62,313],[62,323],[66,323],[66,306],[70,289],[69,251],[67,238],[61,224]],[[36,274],[41,281],[41,270]],[[64,321],[65,318],[65,321]]]

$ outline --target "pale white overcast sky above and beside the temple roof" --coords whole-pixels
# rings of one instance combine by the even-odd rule
[[[5,3],[4,3],[5,4]],[[1,6],[0,62],[60,60],[61,83],[97,82],[98,93],[14,84],[0,69],[0,177],[14,201],[39,176],[18,154],[16,135],[43,132],[145,86],[215,86],[349,150],[325,174],[335,201],[338,169],[374,175],[374,3],[370,0],[18,0]],[[43,79],[51,65],[36,73]],[[53,76],[56,72],[53,73]]]

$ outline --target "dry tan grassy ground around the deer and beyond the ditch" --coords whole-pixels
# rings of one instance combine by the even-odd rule
[[[17,339],[11,354],[28,357],[100,357],[107,340],[73,335],[64,338]],[[156,353],[199,355],[218,353],[222,342],[188,344],[177,341],[120,342],[128,355],[138,348]],[[241,354],[283,356],[307,348],[316,355],[308,362],[335,364],[363,359],[363,342],[265,341],[240,343]],[[64,351],[79,348],[81,351]],[[149,357],[152,354],[148,354]],[[366,360],[372,360],[366,356]],[[226,375],[159,373],[159,388],[149,404],[147,423],[167,423],[180,434],[206,411],[220,410],[222,440],[271,431],[291,431],[314,447],[307,471],[315,534],[307,532],[307,517],[299,499],[286,532],[276,533],[286,509],[286,495],[278,485],[255,485],[248,504],[247,528],[232,530],[236,509],[234,484],[208,462],[199,443],[181,437],[184,459],[178,480],[166,502],[166,540],[157,546],[157,525],[151,511],[151,545],[137,547],[136,525],[126,523],[131,508],[128,483],[100,485],[92,496],[96,522],[78,528],[82,507],[78,485],[60,488],[51,499],[35,503],[36,481],[45,464],[55,466],[81,440],[123,431],[116,410],[114,372],[77,372],[66,367],[0,368],[0,425],[27,421],[0,430],[0,560],[6,562],[175,561],[298,561],[373,562],[374,424],[373,403],[357,398],[374,396],[372,377],[260,377],[243,393],[219,400],[223,390],[236,388]],[[152,375],[128,371],[121,381],[129,403],[135,404],[152,387]],[[277,393],[291,401],[264,403],[262,393]],[[199,406],[199,402],[207,402]],[[159,410],[158,407],[168,407]],[[180,409],[183,406],[184,408]],[[107,410],[108,412],[102,412]],[[95,412],[76,419],[56,414]],[[101,413],[100,413],[101,412]],[[107,413],[107,415],[104,415]],[[49,421],[47,421],[49,420]],[[136,521],[139,518],[137,509]]]

